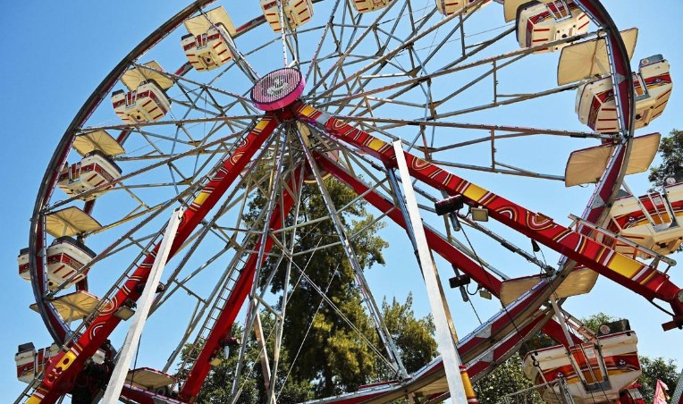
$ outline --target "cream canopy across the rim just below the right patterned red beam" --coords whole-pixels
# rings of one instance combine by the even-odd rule
[[[597,281],[598,274],[588,268],[579,268],[571,272],[569,276],[561,283],[560,287],[555,290],[558,298],[568,298],[569,296],[577,296],[588,293]],[[517,300],[519,296],[534,287],[534,285],[541,281],[539,275],[527,276],[519,279],[511,279],[510,281],[502,282],[501,284],[501,302],[503,305],[509,305]]]

